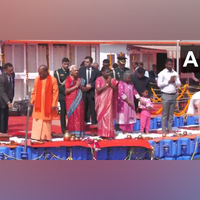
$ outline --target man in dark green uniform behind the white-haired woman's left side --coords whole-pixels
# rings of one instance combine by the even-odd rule
[[[69,76],[69,59],[62,59],[62,67],[54,72],[54,77],[58,81],[59,103],[60,103],[60,123],[62,133],[66,132],[66,103],[65,103],[65,80]]]

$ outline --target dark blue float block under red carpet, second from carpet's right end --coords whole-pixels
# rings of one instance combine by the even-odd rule
[[[125,160],[127,155],[127,147],[108,148],[108,160]]]

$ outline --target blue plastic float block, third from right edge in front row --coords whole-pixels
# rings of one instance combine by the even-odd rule
[[[177,144],[173,140],[165,139],[160,141],[159,158],[175,158],[177,156]]]

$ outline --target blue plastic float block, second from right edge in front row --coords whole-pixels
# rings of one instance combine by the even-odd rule
[[[189,138],[180,138],[177,140],[177,156],[190,156],[190,139]]]

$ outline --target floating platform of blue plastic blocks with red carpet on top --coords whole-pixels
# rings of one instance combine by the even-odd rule
[[[160,118],[153,119],[153,126],[160,126]],[[182,124],[181,118],[174,118],[174,124]],[[159,128],[150,134],[141,135],[117,133],[113,140],[100,140],[87,132],[84,141],[64,141],[59,137],[59,121],[54,121],[52,142],[36,143],[28,140],[24,156],[26,117],[10,117],[10,141],[0,141],[0,160],[190,160],[200,158],[200,131],[196,117],[189,117],[189,126],[174,127],[167,137],[162,137]],[[192,124],[193,123],[193,124]],[[193,126],[191,126],[193,125]],[[29,136],[32,126],[30,118]],[[184,131],[187,131],[185,135]],[[56,137],[58,136],[58,137]],[[127,138],[129,137],[129,138]]]

